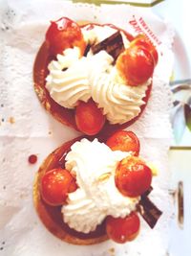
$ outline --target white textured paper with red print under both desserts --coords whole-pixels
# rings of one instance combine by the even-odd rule
[[[12,0],[0,4],[0,255],[165,255],[173,212],[168,196],[167,161],[171,138],[168,80],[173,63],[170,50],[172,29],[149,10],[129,6],[96,7],[62,0]],[[80,247],[65,244],[45,229],[32,206],[32,182],[40,163],[56,147],[79,134],[53,120],[39,104],[32,87],[35,55],[44,40],[49,21],[61,16],[113,23],[133,35],[139,29],[147,35],[152,35],[152,32],[157,35],[157,38],[155,35],[152,38],[157,41],[161,55],[152,95],[141,118],[129,129],[140,138],[141,155],[159,168],[151,198],[163,215],[154,230],[142,221],[138,239],[130,244],[111,241]],[[33,166],[28,163],[28,156],[32,153],[38,156],[38,162]]]

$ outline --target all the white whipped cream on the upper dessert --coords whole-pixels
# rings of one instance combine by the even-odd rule
[[[89,44],[115,32],[116,29],[109,26],[82,29]],[[128,47],[127,38],[125,35],[122,37],[125,47]],[[113,62],[112,56],[105,51],[93,55],[90,50],[86,57],[80,57],[78,48],[66,49],[63,55],[57,55],[57,60],[49,64],[46,87],[59,105],[74,108],[79,101],[87,102],[92,97],[111,124],[126,123],[138,116],[151,80],[137,86],[125,84]]]

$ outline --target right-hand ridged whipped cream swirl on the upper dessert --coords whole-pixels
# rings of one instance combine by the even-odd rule
[[[116,70],[114,69],[114,74]],[[110,124],[123,124],[138,116],[150,80],[139,86],[117,82],[113,76],[103,74],[92,83],[92,98],[103,109]]]

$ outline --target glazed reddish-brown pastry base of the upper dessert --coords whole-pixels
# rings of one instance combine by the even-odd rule
[[[86,22],[78,22],[78,23],[80,24],[81,27],[90,24],[90,23],[86,23]],[[98,25],[98,24],[93,23],[93,25]],[[111,27],[119,30],[114,25],[107,24],[107,26],[111,26]],[[132,35],[124,32],[124,31],[123,31],[123,33],[125,33],[125,35],[128,37],[128,39],[130,41],[133,40],[134,37]],[[48,112],[50,112],[53,115],[53,117],[57,121],[59,121],[60,123],[62,123],[65,126],[74,128],[75,130],[79,131],[75,124],[75,109],[68,109],[64,106],[61,106],[61,105],[58,105],[57,103],[55,103],[53,101],[53,99],[51,98],[49,91],[46,89],[45,79],[49,73],[48,64],[51,60],[53,60],[53,57],[50,56],[49,45],[45,41],[41,45],[41,47],[37,53],[37,56],[34,60],[34,65],[33,65],[34,90],[36,92],[36,95],[37,95],[40,103],[45,107],[45,109]],[[147,102],[148,102],[148,99],[150,96],[150,92],[151,92],[151,88],[152,88],[152,83],[147,88],[146,96],[143,98],[143,101],[145,102],[145,104],[140,106],[140,112],[137,117],[133,118],[132,120],[130,120],[122,125],[119,125],[119,124],[111,125],[111,124],[109,124],[108,121],[106,121],[104,127],[99,131],[98,134],[100,134],[100,136],[103,136],[103,137],[104,136],[109,137],[118,129],[128,128],[133,123],[135,123],[138,120],[141,113],[143,112],[145,106],[147,105]]]

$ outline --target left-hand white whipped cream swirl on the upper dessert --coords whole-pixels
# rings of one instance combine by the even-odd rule
[[[57,55],[57,61],[51,61],[46,87],[57,104],[74,108],[78,101],[90,99],[88,72],[84,65],[85,58],[80,58],[76,47],[65,50],[64,56]]]

